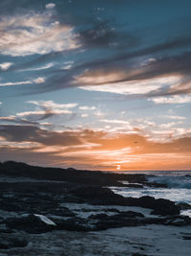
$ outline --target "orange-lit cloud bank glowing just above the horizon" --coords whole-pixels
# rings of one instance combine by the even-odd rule
[[[121,164],[123,170],[142,170],[146,167],[173,169],[182,166],[183,162],[183,167],[187,169],[191,131],[189,134],[183,129],[179,132],[181,138],[161,143],[141,134],[110,134],[92,129],[51,131],[35,126],[2,125],[1,159],[8,159],[10,155],[13,155],[13,159],[17,156],[22,159],[27,154],[28,159],[32,160],[38,153],[46,163],[51,164],[49,161],[52,159],[52,165],[91,166],[96,170],[98,166],[114,170],[117,164]]]

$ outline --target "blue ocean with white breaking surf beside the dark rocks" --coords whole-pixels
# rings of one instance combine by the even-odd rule
[[[177,203],[186,202],[191,204],[191,171],[138,171],[138,172],[121,172],[122,174],[144,174],[150,182],[166,184],[167,188],[128,188],[113,187],[112,190],[125,198],[140,198],[150,196],[154,198],[165,198]],[[123,182],[125,184],[125,182]],[[182,215],[191,218],[191,209],[183,210]]]

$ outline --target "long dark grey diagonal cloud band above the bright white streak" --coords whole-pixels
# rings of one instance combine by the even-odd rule
[[[124,53],[122,55],[117,55],[115,58],[102,58],[94,61],[88,61],[82,64],[75,64],[71,70],[67,72],[59,70],[54,72],[48,81],[46,81],[42,86],[34,86],[31,93],[52,91],[62,88],[69,88],[73,86],[85,86],[86,84],[74,83],[74,77],[78,77],[85,70],[89,72],[115,72],[115,70],[121,70],[121,72],[126,73],[125,77],[118,78],[118,80],[110,81],[113,83],[119,81],[135,81],[135,80],[147,80],[164,75],[173,75],[179,73],[184,76],[182,82],[189,81],[190,63],[191,63],[191,53],[184,52],[182,54],[162,54],[161,51],[170,51],[172,49],[180,49],[183,46],[191,46],[191,38],[178,38],[175,40],[170,40],[165,43],[161,43],[156,46],[140,49],[137,51],[131,51],[129,53]],[[159,54],[160,53],[160,54]],[[159,55],[158,55],[159,54]],[[156,61],[152,61],[145,66],[140,66],[140,58],[156,58]],[[138,72],[134,72],[138,70]],[[132,75],[132,71],[136,75]],[[187,76],[187,77],[186,77]],[[107,81],[105,82],[107,83]],[[98,85],[105,84],[97,83]],[[88,84],[87,84],[88,85]],[[91,85],[89,83],[89,85]],[[172,92],[173,93],[173,92]],[[178,90],[179,93],[186,93],[184,90]]]

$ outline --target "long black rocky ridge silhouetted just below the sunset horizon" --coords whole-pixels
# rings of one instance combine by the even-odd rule
[[[142,185],[150,186],[150,184],[151,186],[164,186],[164,184],[148,182],[146,175],[124,175],[98,171],[79,171],[73,168],[45,168],[30,166],[25,163],[17,163],[14,161],[4,163],[0,162],[0,175],[25,176],[36,179],[67,181],[97,186],[142,187]],[[125,185],[121,181],[128,181],[128,184]]]

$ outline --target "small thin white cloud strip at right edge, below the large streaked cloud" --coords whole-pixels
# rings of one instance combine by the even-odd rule
[[[175,95],[172,97],[158,97],[153,99],[148,99],[149,101],[154,102],[157,105],[171,105],[171,104],[189,104],[191,103],[191,95]]]

